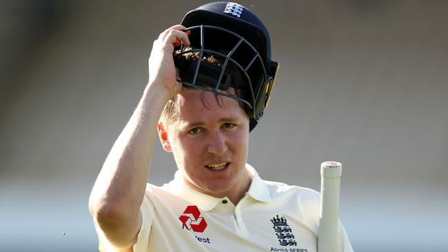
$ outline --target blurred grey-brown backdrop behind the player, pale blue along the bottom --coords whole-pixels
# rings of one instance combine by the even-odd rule
[[[206,1],[0,1],[0,251],[97,251],[88,196],[152,42]],[[448,1],[240,1],[281,62],[251,133],[266,180],[343,163],[355,251],[448,251]],[[149,182],[176,167],[156,143]]]

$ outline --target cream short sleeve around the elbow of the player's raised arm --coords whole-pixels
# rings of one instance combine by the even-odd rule
[[[147,193],[145,193],[145,196],[143,197],[143,202],[141,203],[140,207],[142,221],[141,221],[141,228],[139,231],[139,235],[137,237],[137,242],[132,246],[132,249],[134,252],[145,252],[149,251],[149,240],[150,240],[150,230],[152,225],[152,216],[154,213],[154,206],[152,205],[152,202],[150,198],[147,196]],[[105,237],[105,234],[99,227],[98,223],[94,221],[96,233],[98,234],[98,240],[99,240],[99,251],[101,252],[120,252],[119,249],[116,249],[108,239]]]

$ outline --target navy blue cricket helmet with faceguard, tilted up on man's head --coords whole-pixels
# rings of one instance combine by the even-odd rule
[[[180,70],[183,85],[198,87],[223,96],[236,98],[248,107],[250,131],[263,116],[274,87],[278,63],[271,60],[269,32],[256,15],[230,2],[207,3],[183,18],[190,31],[190,47],[180,45],[174,63]],[[185,61],[184,54],[198,54],[201,61]],[[219,66],[202,62],[214,56]],[[228,72],[238,70],[243,78]],[[228,92],[229,87],[241,92]]]

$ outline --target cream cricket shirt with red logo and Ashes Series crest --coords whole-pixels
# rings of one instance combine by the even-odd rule
[[[181,171],[162,187],[147,184],[134,251],[316,252],[319,193],[262,180],[253,167],[246,167],[252,183],[236,206],[227,197],[188,187]],[[117,251],[95,227],[100,251]],[[339,227],[339,251],[353,251]]]

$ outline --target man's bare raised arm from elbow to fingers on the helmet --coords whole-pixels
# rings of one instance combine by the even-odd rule
[[[116,139],[96,178],[89,199],[94,221],[108,241],[132,251],[141,227],[140,206],[150,171],[157,123],[167,101],[178,94],[172,53],[190,41],[182,25],[174,25],[154,41],[149,59],[149,81],[123,132]]]

